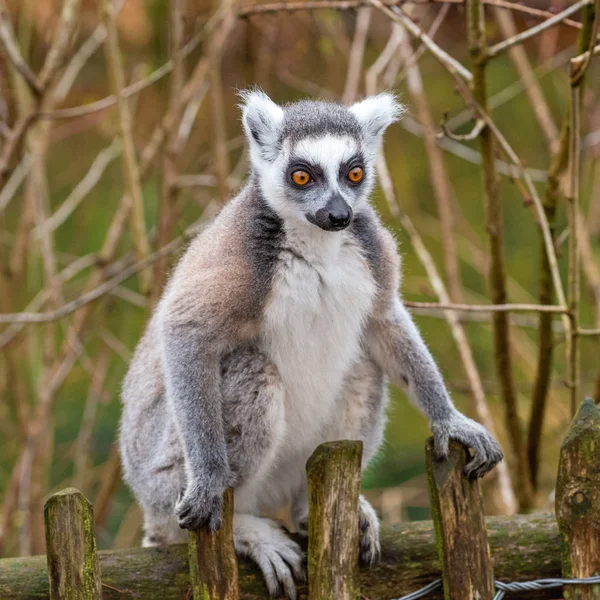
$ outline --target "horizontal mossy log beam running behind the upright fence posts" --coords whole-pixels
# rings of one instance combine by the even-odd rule
[[[560,535],[554,515],[535,514],[486,519],[496,579],[528,581],[560,577]],[[128,548],[98,553],[103,600],[184,600],[191,593],[188,548]],[[239,561],[244,600],[266,600],[258,569]],[[401,523],[381,530],[381,560],[359,571],[362,594],[369,600],[398,598],[441,577],[433,523]],[[306,597],[306,586],[299,586]],[[520,593],[519,600],[555,599],[556,590]],[[48,569],[45,556],[0,560],[2,600],[46,600]],[[188,596],[189,598],[189,596]],[[428,600],[441,600],[441,591]]]

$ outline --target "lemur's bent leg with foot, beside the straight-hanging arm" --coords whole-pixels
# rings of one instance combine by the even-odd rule
[[[276,460],[283,437],[284,390],[276,367],[258,350],[234,351],[222,363],[223,420],[234,486],[233,537],[238,554],[263,572],[269,593],[296,598],[294,577],[304,578],[302,550],[270,519],[255,512],[255,498]]]

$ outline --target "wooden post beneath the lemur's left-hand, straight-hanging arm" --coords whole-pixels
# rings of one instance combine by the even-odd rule
[[[233,545],[233,490],[223,495],[219,531],[190,531],[188,554],[194,600],[239,600],[237,559]]]

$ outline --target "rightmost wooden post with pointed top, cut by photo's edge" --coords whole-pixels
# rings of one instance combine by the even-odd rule
[[[600,574],[600,410],[591,398],[575,415],[560,450],[556,520],[563,577]],[[568,585],[565,598],[600,598],[600,585]]]

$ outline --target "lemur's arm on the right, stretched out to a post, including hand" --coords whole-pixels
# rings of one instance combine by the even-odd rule
[[[487,430],[452,403],[431,353],[397,295],[383,315],[372,318],[367,339],[374,360],[429,420],[439,457],[447,454],[452,438],[474,451],[465,468],[471,477],[482,477],[502,460],[502,451]]]

